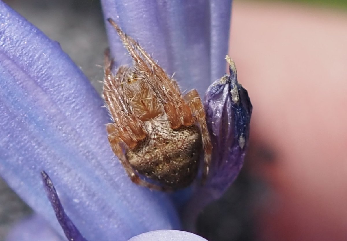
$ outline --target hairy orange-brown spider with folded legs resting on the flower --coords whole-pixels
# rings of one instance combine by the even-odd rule
[[[199,94],[193,89],[183,95],[132,37],[108,21],[134,60],[133,66],[121,66],[113,74],[113,61],[105,51],[103,97],[113,121],[106,125],[113,152],[134,183],[155,190],[191,184],[204,154],[204,182],[212,145]]]

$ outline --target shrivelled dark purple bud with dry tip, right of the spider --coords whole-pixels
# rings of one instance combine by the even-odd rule
[[[208,129],[213,145],[212,163],[207,183],[198,188],[185,207],[184,223],[195,230],[197,215],[211,201],[220,198],[235,180],[248,145],[252,104],[248,93],[237,81],[234,61],[227,56],[230,76],[210,85],[205,97]]]

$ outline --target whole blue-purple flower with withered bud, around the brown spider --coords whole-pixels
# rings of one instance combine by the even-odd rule
[[[232,64],[230,76],[219,79],[226,67],[231,1],[104,0],[102,6],[105,19],[115,19],[169,75],[175,72],[182,89],[196,88],[203,96],[218,79],[205,100],[214,148],[210,178],[180,200],[181,215],[192,225],[234,180],[248,142],[252,107]],[[116,32],[106,27],[116,64],[128,64]],[[36,213],[8,240],[64,240],[41,182],[43,170],[86,240],[128,240],[183,228],[177,210],[183,192],[173,198],[129,180],[109,146],[101,97],[59,43],[3,2],[0,50],[0,175]],[[171,233],[146,235],[158,240],[155,235]]]

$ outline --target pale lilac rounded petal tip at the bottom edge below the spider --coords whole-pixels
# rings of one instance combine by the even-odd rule
[[[193,233],[188,233],[184,231],[178,231],[178,230],[156,230],[152,232],[143,233],[140,235],[137,235],[129,241],[207,241],[206,239],[202,238],[201,236],[198,236]]]

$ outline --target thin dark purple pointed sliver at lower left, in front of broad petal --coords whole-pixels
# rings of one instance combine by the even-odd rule
[[[41,172],[41,176],[47,197],[54,209],[54,213],[56,214],[57,220],[61,228],[63,229],[66,238],[68,240],[86,241],[86,239],[76,228],[75,224],[70,220],[69,216],[66,215],[65,210],[60,203],[57,191],[54,188],[52,180],[44,171]]]

